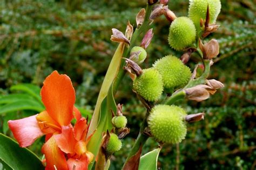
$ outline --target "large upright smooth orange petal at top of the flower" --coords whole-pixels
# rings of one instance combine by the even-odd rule
[[[41,96],[49,115],[60,126],[69,125],[73,118],[73,106],[76,100],[70,78],[65,74],[53,71],[44,80]]]

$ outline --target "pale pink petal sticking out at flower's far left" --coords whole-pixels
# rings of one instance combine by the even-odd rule
[[[32,115],[28,118],[18,119],[18,120],[9,120],[8,125],[14,137],[17,139],[19,146],[27,147],[33,142],[44,135],[38,126],[36,115]]]

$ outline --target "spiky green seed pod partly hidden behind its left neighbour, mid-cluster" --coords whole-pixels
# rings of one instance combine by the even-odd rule
[[[177,89],[187,84],[191,77],[190,68],[180,59],[169,55],[157,60],[153,66],[162,76],[165,89]]]

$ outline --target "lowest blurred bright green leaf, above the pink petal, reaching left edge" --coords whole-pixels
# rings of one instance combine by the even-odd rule
[[[16,101],[14,103],[9,103],[9,104],[0,106],[0,114],[19,111],[19,110],[34,110],[37,112],[42,112],[44,110],[44,106],[32,99]]]

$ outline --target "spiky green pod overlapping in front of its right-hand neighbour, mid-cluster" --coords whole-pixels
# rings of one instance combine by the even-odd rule
[[[163,92],[163,81],[160,73],[154,69],[144,69],[133,81],[133,90],[148,101],[156,101]]]

